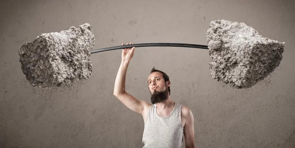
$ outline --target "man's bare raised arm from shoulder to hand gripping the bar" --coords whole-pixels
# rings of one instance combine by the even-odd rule
[[[144,109],[148,107],[148,103],[146,101],[134,98],[132,95],[128,94],[125,91],[126,73],[129,62],[133,57],[134,49],[135,47],[122,50],[122,61],[115,81],[114,95],[129,109],[143,114]]]

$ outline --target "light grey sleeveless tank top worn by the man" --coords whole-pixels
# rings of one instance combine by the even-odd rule
[[[143,148],[180,148],[182,146],[181,106],[175,103],[168,117],[157,114],[156,104],[150,106],[143,133]]]

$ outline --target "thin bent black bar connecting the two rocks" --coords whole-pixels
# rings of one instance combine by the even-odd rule
[[[198,49],[208,49],[206,45],[196,45],[196,44],[182,44],[182,43],[142,43],[142,44],[132,44],[132,45],[122,45],[103,49],[91,50],[91,53],[115,50],[115,49],[126,49],[132,47],[186,47],[186,48],[198,48]]]

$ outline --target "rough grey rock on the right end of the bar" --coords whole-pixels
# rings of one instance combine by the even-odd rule
[[[279,66],[285,42],[259,35],[244,23],[215,20],[207,30],[211,77],[250,88]]]

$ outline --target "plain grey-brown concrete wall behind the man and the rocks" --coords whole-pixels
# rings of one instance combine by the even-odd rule
[[[29,85],[17,51],[46,32],[89,23],[94,49],[121,43],[206,45],[215,19],[244,22],[286,42],[280,66],[249,89],[210,77],[206,49],[137,48],[126,90],[149,101],[155,66],[171,98],[191,108],[197,148],[295,148],[294,0],[1,0],[0,148],[141,148],[144,122],[113,96],[121,49],[91,55],[93,74],[71,88]]]

